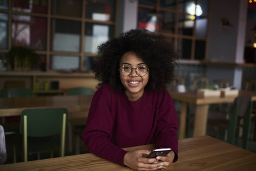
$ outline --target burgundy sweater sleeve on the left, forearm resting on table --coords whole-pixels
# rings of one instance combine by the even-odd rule
[[[83,139],[87,148],[96,156],[124,166],[123,158],[127,152],[109,140],[113,127],[110,110],[111,92],[107,87],[101,87],[92,99]]]

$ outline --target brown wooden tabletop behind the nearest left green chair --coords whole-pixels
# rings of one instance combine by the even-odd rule
[[[67,108],[68,112],[88,110],[93,95],[0,98],[0,117],[19,116],[29,108]]]

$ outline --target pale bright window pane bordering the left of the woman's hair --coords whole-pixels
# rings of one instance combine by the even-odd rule
[[[114,26],[112,25],[103,25],[95,23],[86,23],[84,37],[84,52],[87,53],[96,53],[97,47],[113,38],[114,36]]]

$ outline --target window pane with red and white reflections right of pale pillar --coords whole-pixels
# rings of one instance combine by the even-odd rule
[[[138,27],[147,28],[149,31],[156,31],[156,15],[153,15],[155,10],[144,9],[139,7],[138,12]]]

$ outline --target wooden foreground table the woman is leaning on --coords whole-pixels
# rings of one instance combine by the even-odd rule
[[[255,170],[256,154],[209,136],[179,140],[178,161],[165,170]],[[153,149],[153,145],[125,148]],[[0,170],[131,170],[92,153],[0,165]]]

